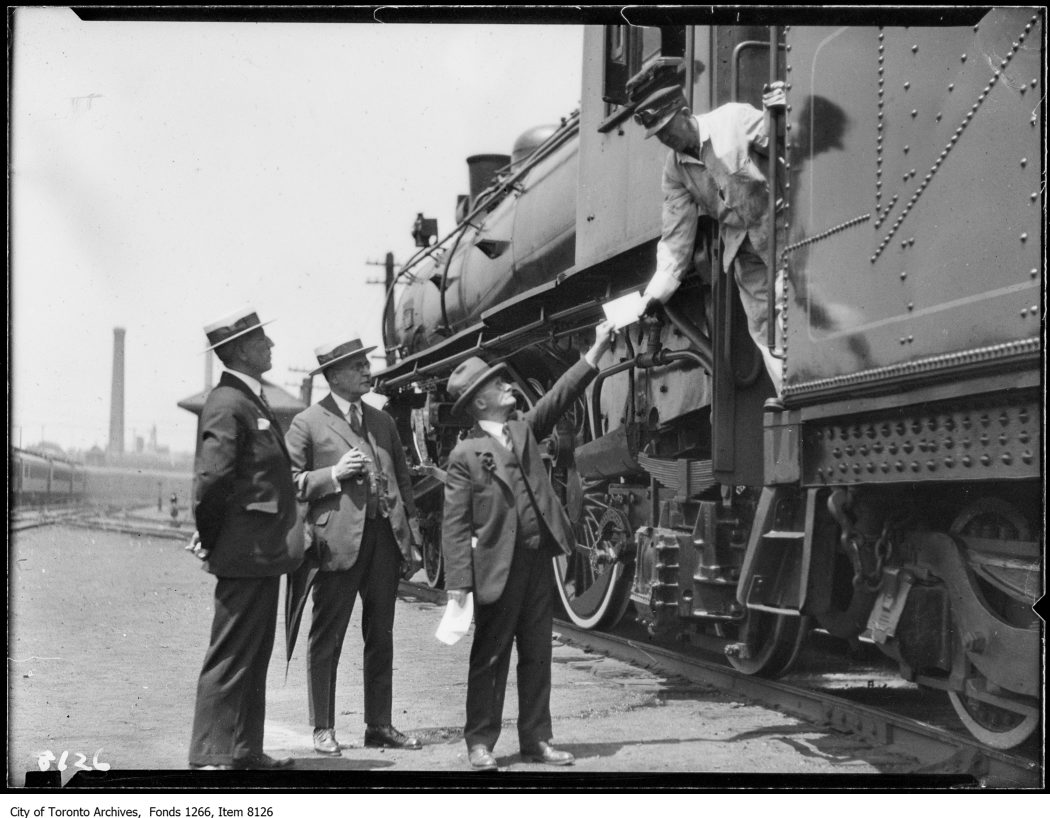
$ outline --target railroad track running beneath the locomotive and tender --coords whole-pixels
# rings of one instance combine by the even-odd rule
[[[402,582],[401,594],[438,604],[445,601],[443,591],[411,582]],[[651,642],[618,633],[582,630],[564,620],[555,618],[554,623],[560,637],[575,647],[665,675],[677,675],[698,685],[709,685],[804,721],[859,735],[876,746],[892,743],[918,759],[940,759],[915,771],[917,773],[969,774],[979,786],[988,789],[1037,790],[1044,785],[1040,761],[993,750],[945,727],[850,701],[826,690],[790,680],[749,676],[723,663],[688,655]]]

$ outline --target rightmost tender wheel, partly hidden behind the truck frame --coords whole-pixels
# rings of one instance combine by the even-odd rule
[[[969,505],[952,522],[951,532],[993,540],[1031,538],[1031,528],[1025,516],[1011,503],[993,497],[983,498]],[[999,604],[992,606],[994,612],[1015,625],[1034,623],[1028,600],[1017,600],[1008,594],[986,595],[985,599],[998,600]],[[978,684],[973,687],[983,689],[984,678],[976,675]],[[983,700],[968,691],[949,690],[948,698],[959,719],[973,737],[996,750],[1016,747],[1032,735],[1040,725],[1040,712],[1036,708],[1010,710]]]

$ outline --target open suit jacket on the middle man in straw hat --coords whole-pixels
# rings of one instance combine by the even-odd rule
[[[309,504],[306,518],[307,544],[318,548],[323,571],[345,571],[357,562],[364,531],[368,488],[365,483],[332,480],[332,466],[351,446],[372,446],[373,467],[386,475],[390,521],[404,559],[412,559],[408,516],[416,515],[412,479],[394,419],[385,412],[361,402],[366,440],[350,427],[335,399],[329,395],[292,419],[285,436],[292,458],[292,477],[299,500]]]

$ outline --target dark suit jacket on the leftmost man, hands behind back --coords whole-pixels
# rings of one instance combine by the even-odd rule
[[[226,372],[201,411],[193,516],[210,552],[205,567],[218,576],[277,576],[302,559],[280,428],[248,385]]]

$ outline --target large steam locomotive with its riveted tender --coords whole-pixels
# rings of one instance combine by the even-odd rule
[[[417,230],[400,273],[400,361],[376,380],[413,444],[432,584],[463,432],[449,372],[504,360],[534,400],[601,303],[654,269],[666,149],[630,121],[627,81],[662,61],[705,111],[760,107],[779,78],[784,408],[763,412],[773,387],[709,226],[714,249],[546,441],[578,537],[552,566],[565,612],[601,628],[633,605],[762,675],[813,628],[863,634],[988,744],[1033,733],[1044,20],[972,23],[586,29],[581,109],[474,163],[501,167],[443,239]]]

